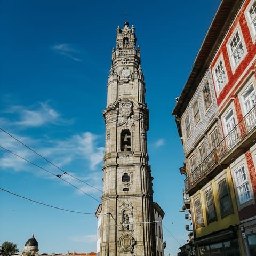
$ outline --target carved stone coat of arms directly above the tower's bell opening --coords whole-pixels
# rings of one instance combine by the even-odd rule
[[[117,126],[126,124],[126,126],[133,126],[133,116],[132,114],[132,102],[131,100],[121,100],[119,103],[119,115]]]

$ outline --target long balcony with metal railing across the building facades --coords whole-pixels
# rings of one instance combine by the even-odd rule
[[[198,189],[204,185],[204,178],[219,170],[222,166],[228,166],[234,159],[243,154],[245,148],[255,143],[256,134],[256,106],[227,134],[219,145],[191,172],[185,179],[185,191],[191,194],[195,186]],[[254,138],[255,137],[255,138]],[[218,168],[219,167],[219,168]],[[200,183],[202,186],[200,186]],[[194,189],[194,190],[195,190]]]

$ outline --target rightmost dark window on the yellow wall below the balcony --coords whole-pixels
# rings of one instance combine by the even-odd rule
[[[218,183],[219,201],[220,201],[220,213],[221,218],[233,213],[233,206],[231,203],[227,180],[222,179]]]

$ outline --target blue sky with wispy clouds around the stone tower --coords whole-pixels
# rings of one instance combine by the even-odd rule
[[[154,201],[165,211],[165,255],[187,239],[183,149],[171,116],[218,1],[1,1],[0,188],[71,211],[95,213],[102,190],[107,77],[116,28],[135,26],[150,110]],[[127,15],[125,15],[127,14]],[[51,172],[51,173],[49,173]],[[94,189],[93,187],[99,189]],[[86,193],[86,194],[85,194]],[[61,211],[0,190],[0,243],[19,250],[31,234],[39,253],[96,250],[93,214]]]

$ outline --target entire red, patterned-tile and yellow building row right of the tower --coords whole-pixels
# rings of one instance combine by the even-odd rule
[[[186,253],[256,255],[256,0],[221,1],[172,114],[194,230]]]

